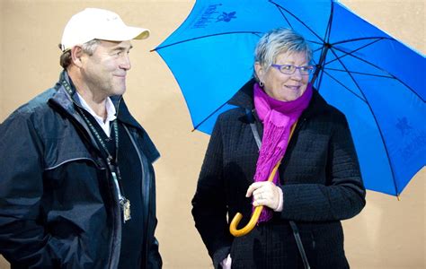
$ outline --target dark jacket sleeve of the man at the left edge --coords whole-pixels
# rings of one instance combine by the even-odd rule
[[[61,243],[40,224],[43,163],[40,137],[15,113],[0,125],[0,253],[13,265],[58,265]]]

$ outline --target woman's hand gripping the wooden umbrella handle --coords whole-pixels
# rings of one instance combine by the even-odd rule
[[[282,190],[272,182],[254,182],[247,189],[245,197],[253,195],[253,206],[265,205],[274,211],[282,210]]]

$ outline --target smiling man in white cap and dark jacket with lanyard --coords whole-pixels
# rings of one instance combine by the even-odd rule
[[[131,39],[110,11],[67,23],[57,84],[0,126],[0,254],[18,268],[160,268],[159,157],[122,94]]]

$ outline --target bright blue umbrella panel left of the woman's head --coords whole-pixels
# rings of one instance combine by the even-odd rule
[[[200,124],[250,79],[253,55],[246,53],[247,44],[254,46],[257,39],[253,34],[216,36],[158,51],[181,86],[193,126],[211,131],[211,125]]]

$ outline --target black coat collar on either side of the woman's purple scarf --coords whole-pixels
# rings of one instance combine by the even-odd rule
[[[256,81],[251,79],[246,82],[243,87],[239,91],[235,93],[235,95],[228,100],[228,104],[234,105],[240,108],[248,108],[250,110],[254,110],[254,102],[253,102],[253,85]],[[312,95],[312,99],[309,102],[309,106],[305,109],[300,117],[313,117],[317,114],[324,113],[326,110],[331,109],[330,105],[324,100],[324,98],[316,91],[314,88],[314,92]]]

